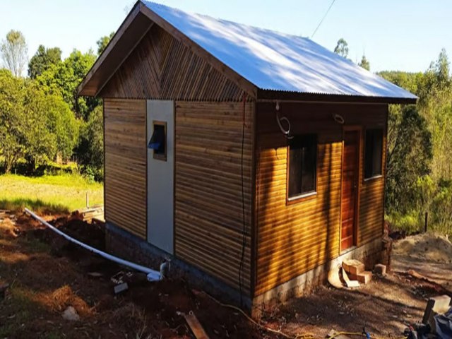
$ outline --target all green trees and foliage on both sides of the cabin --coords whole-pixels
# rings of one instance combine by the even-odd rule
[[[97,54],[74,49],[64,60],[59,47],[41,45],[24,78],[25,37],[8,32],[0,44],[2,172],[39,176],[52,174],[55,164],[73,164],[91,181],[102,181],[102,102],[78,97],[77,86],[112,37],[97,40]],[[345,39],[334,51],[348,57]],[[364,54],[358,64],[371,69]],[[432,229],[452,235],[452,78],[446,51],[424,72],[383,71],[379,76],[419,97],[417,105],[389,107],[387,218],[395,227],[416,232],[429,213]]]

